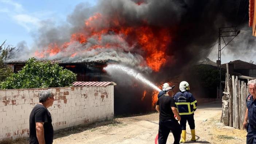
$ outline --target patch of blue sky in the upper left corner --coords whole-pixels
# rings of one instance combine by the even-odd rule
[[[95,5],[97,0],[0,0],[0,43],[26,41],[30,47],[41,20],[65,22],[79,3]]]

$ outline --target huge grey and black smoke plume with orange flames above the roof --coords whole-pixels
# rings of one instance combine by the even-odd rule
[[[206,57],[218,27],[243,28],[247,13],[247,1],[233,0],[100,0],[93,7],[81,3],[61,26],[42,22],[32,50],[21,45],[17,52],[23,50],[24,55],[11,60],[109,59],[147,71],[182,69]],[[253,50],[250,43],[255,40],[240,43],[239,50]],[[237,43],[232,46],[236,48],[229,52],[236,55]]]

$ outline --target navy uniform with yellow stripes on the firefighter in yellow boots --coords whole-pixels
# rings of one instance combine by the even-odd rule
[[[181,129],[186,130],[187,122],[190,129],[195,129],[194,111],[197,109],[197,100],[188,91],[176,93],[174,100],[181,116]]]

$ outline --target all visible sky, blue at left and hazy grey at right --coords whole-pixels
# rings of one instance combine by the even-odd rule
[[[40,22],[44,20],[53,20],[57,24],[66,23],[67,15],[74,11],[74,8],[79,3],[86,3],[88,5],[96,5],[97,0],[0,0],[0,43],[6,40],[6,44],[16,46],[18,43],[26,42],[28,48],[32,47],[34,42],[33,37],[35,32],[40,28]],[[232,47],[236,46],[234,43],[236,39],[243,39],[251,35],[250,28],[246,28],[247,32],[242,32],[232,42],[222,50],[222,63],[241,59],[249,62],[250,60],[256,62],[255,53],[243,51],[236,53],[231,52]],[[241,28],[244,29],[244,28]],[[245,36],[246,34],[246,36]],[[256,40],[256,38],[255,38]],[[239,42],[237,42],[239,43]],[[209,44],[209,47],[212,44]],[[218,59],[218,44],[216,44],[209,51],[202,54],[208,55],[208,58],[214,62]]]

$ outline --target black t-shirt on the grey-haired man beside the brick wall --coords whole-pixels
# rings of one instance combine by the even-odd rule
[[[36,105],[29,117],[29,143],[38,144],[38,139],[36,137],[36,122],[44,122],[44,140],[46,144],[53,143],[53,125],[51,124],[51,114],[43,105]]]

